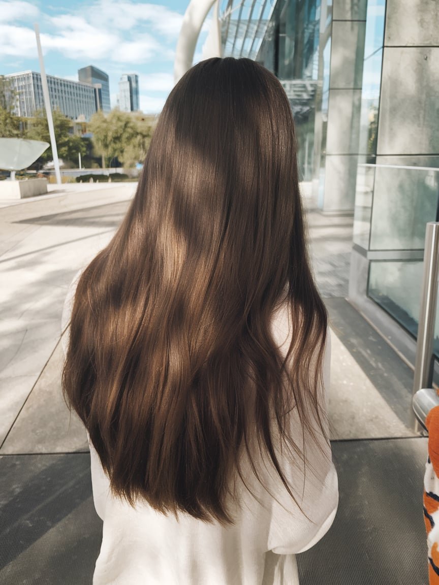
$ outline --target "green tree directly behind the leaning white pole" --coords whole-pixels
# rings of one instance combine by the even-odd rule
[[[71,134],[71,121],[59,110],[52,112],[52,118],[58,157],[77,164],[78,154],[81,153],[81,156],[84,156],[87,153],[87,144],[84,143],[80,136]],[[50,143],[49,124],[44,112],[36,112],[35,118],[29,123],[26,137],[31,140],[43,140]],[[35,164],[40,168],[50,160],[53,160],[52,147],[48,148]]]

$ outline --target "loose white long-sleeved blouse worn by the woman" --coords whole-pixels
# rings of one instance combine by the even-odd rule
[[[63,311],[70,312],[77,277]],[[273,316],[273,337],[286,351],[290,341],[289,312],[280,308]],[[66,338],[66,336],[64,336]],[[330,332],[324,360],[324,386],[330,376]],[[67,346],[67,340],[64,347]],[[319,399],[325,409],[324,388]],[[296,409],[291,413],[292,436],[303,448]],[[317,429],[317,423],[315,425]],[[104,521],[102,545],[93,585],[298,585],[296,554],[317,543],[334,521],[338,481],[331,448],[321,433],[321,449],[305,435],[306,473],[303,462],[276,455],[297,502],[291,499],[271,463],[259,459],[263,485],[247,468],[253,498],[239,487],[241,505],[229,505],[235,524],[208,524],[188,514],[165,516],[141,502],[135,508],[109,493],[109,480],[90,444],[94,505]],[[90,443],[90,440],[89,440]],[[246,469],[245,463],[243,469]],[[240,481],[240,480],[239,480]]]

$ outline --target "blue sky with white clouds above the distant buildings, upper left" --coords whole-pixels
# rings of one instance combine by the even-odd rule
[[[48,75],[77,80],[81,67],[109,75],[111,105],[118,81],[137,73],[140,108],[159,112],[173,86],[174,53],[188,0],[0,0],[0,75],[39,71],[34,23],[38,22]],[[208,20],[196,49],[208,32]]]

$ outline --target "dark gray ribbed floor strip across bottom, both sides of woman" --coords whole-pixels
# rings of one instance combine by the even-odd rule
[[[426,584],[427,439],[332,446],[339,510],[327,536],[298,556],[301,585]],[[0,457],[0,494],[0,585],[91,584],[102,524],[88,453]]]

